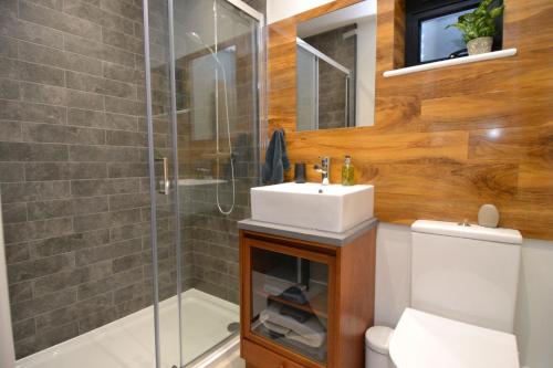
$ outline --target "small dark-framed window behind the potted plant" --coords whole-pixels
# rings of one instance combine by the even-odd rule
[[[462,33],[446,27],[479,3],[480,0],[407,0],[405,66],[467,55]],[[502,17],[497,22],[493,50],[501,49]]]

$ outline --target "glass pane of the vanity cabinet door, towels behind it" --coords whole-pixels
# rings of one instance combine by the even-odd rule
[[[251,333],[327,361],[328,264],[250,248]]]

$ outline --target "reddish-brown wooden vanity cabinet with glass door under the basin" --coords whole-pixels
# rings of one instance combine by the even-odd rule
[[[337,245],[301,230],[283,235],[240,229],[240,348],[247,367],[364,367],[364,334],[374,323],[376,223]],[[280,324],[283,315],[288,322]]]

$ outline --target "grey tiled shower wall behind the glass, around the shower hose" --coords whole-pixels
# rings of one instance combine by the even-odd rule
[[[255,125],[259,124],[254,108],[257,94],[252,88],[254,65],[252,64],[251,34],[244,33],[231,40],[236,45],[236,86],[229,85],[231,106],[231,141],[234,159],[236,198],[234,209],[229,215],[221,214],[217,207],[216,185],[182,187],[182,232],[185,254],[184,284],[196,287],[232,303],[239,303],[239,241],[237,221],[250,217],[250,188],[259,185],[259,165],[255,150]],[[186,70],[187,62],[179,63]],[[187,75],[187,73],[184,73]],[[184,81],[186,83],[186,80]],[[188,86],[189,87],[189,86]],[[222,93],[222,91],[221,91]],[[187,115],[179,118],[179,146],[181,174],[217,177],[216,141],[194,140],[191,122]],[[220,122],[225,126],[226,122]],[[221,139],[221,151],[227,151],[227,141]],[[202,171],[198,171],[201,169]],[[232,204],[232,181],[229,157],[219,160],[219,200],[223,210]]]

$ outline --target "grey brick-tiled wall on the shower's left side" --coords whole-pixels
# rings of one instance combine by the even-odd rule
[[[150,304],[142,32],[140,1],[0,2],[0,181],[18,357]],[[166,259],[170,227],[159,220]],[[174,273],[161,270],[163,295]]]

